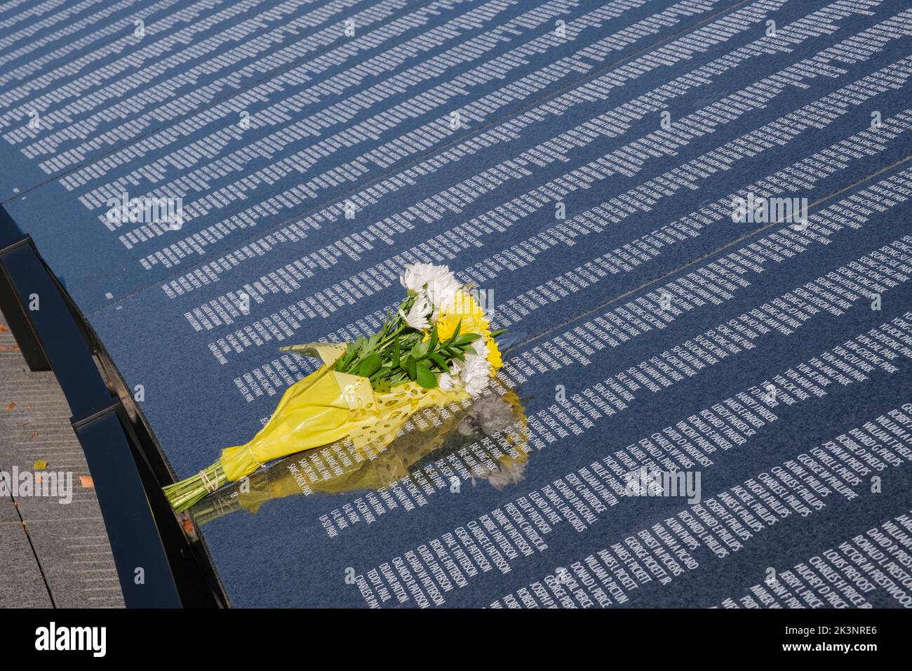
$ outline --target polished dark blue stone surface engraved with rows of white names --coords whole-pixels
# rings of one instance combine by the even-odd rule
[[[528,454],[492,453],[492,430],[472,456],[460,419],[360,465],[330,447],[271,466],[192,513],[233,605],[812,603],[795,567],[835,548],[845,571],[897,517],[901,563],[906,438],[894,466],[839,436],[912,400],[907,3],[557,5],[165,2],[145,37],[127,11],[92,37],[91,75],[49,55],[38,92],[0,79],[5,208],[141,385],[175,477],[313,370],[279,347],[371,330],[409,262],[492,291],[509,329]],[[181,79],[232,28],[262,53]],[[156,46],[187,60],[130,59]],[[104,111],[127,75],[134,125]],[[49,126],[22,130],[30,105]],[[185,220],[107,222],[125,191],[181,196]],[[749,193],[806,199],[810,223],[732,221]],[[617,496],[653,463],[699,473],[702,507]]]

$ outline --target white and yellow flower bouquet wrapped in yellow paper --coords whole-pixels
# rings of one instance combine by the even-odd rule
[[[164,488],[190,508],[268,461],[337,440],[385,446],[421,410],[484,393],[503,365],[485,312],[449,268],[415,264],[401,278],[408,297],[370,338],[285,347],[323,365],[289,387],[269,422],[212,466]]]

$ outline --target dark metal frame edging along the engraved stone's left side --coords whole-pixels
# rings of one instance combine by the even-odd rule
[[[30,309],[35,298],[37,309]],[[53,371],[67,397],[127,606],[225,605],[211,562],[199,543],[188,540],[161,492],[171,475],[146,425],[135,414],[131,419],[120,400],[129,392],[119,376],[106,383],[99,372],[93,354],[109,362],[107,352],[31,236],[2,206],[0,309],[29,369]]]

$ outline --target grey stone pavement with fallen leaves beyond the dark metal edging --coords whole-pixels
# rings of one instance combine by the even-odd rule
[[[54,373],[28,370],[0,315],[0,471],[47,470],[72,477],[68,504],[59,496],[3,488],[0,607],[124,605],[98,498],[69,416]]]

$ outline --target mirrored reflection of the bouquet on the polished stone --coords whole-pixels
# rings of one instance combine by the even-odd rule
[[[440,472],[435,465],[441,459],[455,456],[473,443],[473,455],[481,457],[474,459],[473,482],[487,480],[498,489],[519,482],[528,459],[523,405],[515,393],[501,387],[497,380],[493,385],[497,393],[486,393],[473,402],[463,397],[460,402],[422,411],[421,422],[405,425],[379,454],[365,456],[360,461],[337,461],[341,472],[324,471],[321,477],[321,469],[316,465],[324,460],[324,450],[311,450],[258,471],[242,486],[225,488],[207,498],[192,508],[193,517],[205,524],[238,509],[256,513],[264,502],[274,498],[389,488],[426,466]],[[481,442],[485,437],[498,436],[501,436],[499,448]],[[330,454],[333,447],[326,447]],[[445,484],[451,487],[453,483],[445,480]]]

